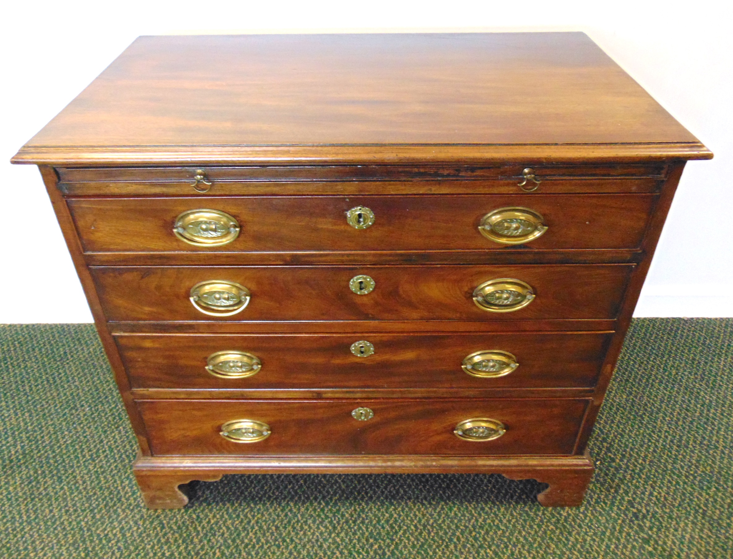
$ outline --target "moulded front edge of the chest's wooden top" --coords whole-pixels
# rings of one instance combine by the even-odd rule
[[[48,166],[359,165],[513,162],[640,163],[712,159],[699,142],[658,144],[394,145],[386,146],[113,146],[22,147],[11,163]]]

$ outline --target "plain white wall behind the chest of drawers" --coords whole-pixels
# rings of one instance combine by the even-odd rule
[[[10,2],[1,11],[0,34],[0,323],[92,320],[40,175],[31,166],[10,166],[15,151],[135,37],[253,32],[586,32],[715,152],[712,161],[688,163],[636,316],[733,316],[731,6],[645,0]]]

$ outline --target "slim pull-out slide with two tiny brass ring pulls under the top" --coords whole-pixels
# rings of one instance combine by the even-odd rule
[[[522,193],[523,170],[540,181],[538,193],[656,192],[664,163],[481,166],[266,166],[56,169],[59,188],[70,196],[197,196],[197,171],[210,185],[207,196],[271,194]],[[530,182],[530,185],[536,185]]]

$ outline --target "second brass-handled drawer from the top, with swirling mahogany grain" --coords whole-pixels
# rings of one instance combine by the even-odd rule
[[[633,264],[523,264],[89,270],[108,320],[237,322],[615,319],[633,268]],[[491,295],[494,301],[501,299],[501,312],[479,308],[476,289],[491,281],[496,282],[494,286],[506,286],[507,282],[497,281],[503,278],[521,281],[531,292],[518,284],[512,289],[502,287]],[[222,281],[246,288],[251,298],[240,287],[221,287]],[[205,295],[211,306],[202,311],[191,297],[206,286],[213,286],[213,292]],[[361,288],[371,290],[362,295],[353,291]],[[235,289],[236,295],[222,289]],[[482,293],[478,295],[483,297]],[[232,306],[221,307],[217,301],[227,305],[234,301],[240,310],[232,314]],[[219,308],[227,314],[218,314]]]

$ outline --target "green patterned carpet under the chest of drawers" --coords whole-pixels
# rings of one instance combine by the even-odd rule
[[[148,511],[91,325],[0,326],[3,558],[731,558],[733,319],[637,319],[586,504],[496,475],[225,476]]]

